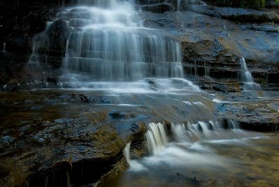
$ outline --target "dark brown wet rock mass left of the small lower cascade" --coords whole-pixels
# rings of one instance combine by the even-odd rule
[[[22,111],[20,106],[24,105],[29,112],[46,108],[33,103],[36,99],[45,100],[45,96],[33,100],[34,95],[29,93],[23,98],[12,95],[19,105],[8,107],[11,103],[6,99],[0,102],[1,119],[6,121],[0,126],[1,186],[94,184],[111,170],[116,174],[126,169],[122,152],[125,144],[116,128],[106,123],[110,119],[107,112],[72,110],[75,114],[67,117],[54,107],[55,112],[47,112],[50,116],[41,119],[33,114],[29,117],[16,114],[16,119],[24,120],[13,123],[10,114]]]

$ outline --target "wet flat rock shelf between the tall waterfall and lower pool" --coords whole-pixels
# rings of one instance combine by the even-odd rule
[[[251,101],[216,94],[206,99],[203,93],[112,96],[75,90],[2,92],[0,96],[2,186],[98,184],[126,170],[126,142],[133,142],[134,156],[144,155],[144,133],[152,121],[219,120],[226,126],[233,119],[248,130],[279,130],[278,96]],[[197,104],[186,107],[183,100]]]

